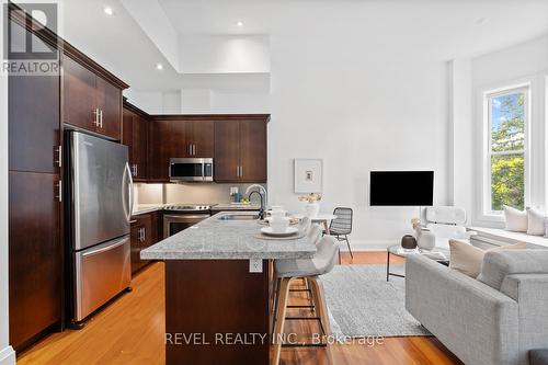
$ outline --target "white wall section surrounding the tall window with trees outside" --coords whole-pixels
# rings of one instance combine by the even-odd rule
[[[548,35],[472,59],[471,90],[475,153],[470,166],[476,179],[468,189],[473,196],[475,225],[502,227],[502,218],[488,219],[481,214],[481,91],[512,85],[516,82],[530,82],[530,182],[529,204],[548,206],[546,186],[546,76],[548,76]],[[467,141],[464,141],[466,144]],[[466,185],[465,185],[466,186]]]

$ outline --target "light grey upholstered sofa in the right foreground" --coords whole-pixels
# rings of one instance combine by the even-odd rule
[[[406,308],[467,365],[529,365],[548,346],[548,250],[487,252],[478,278],[412,254]]]

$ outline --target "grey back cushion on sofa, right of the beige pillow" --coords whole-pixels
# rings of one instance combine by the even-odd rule
[[[548,273],[548,250],[488,251],[478,280],[500,290],[506,275]]]

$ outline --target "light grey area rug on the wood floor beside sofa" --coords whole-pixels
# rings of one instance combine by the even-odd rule
[[[402,273],[402,264],[390,265]],[[386,265],[336,265],[322,275],[333,333],[347,337],[431,335],[406,310],[406,280],[386,281]]]

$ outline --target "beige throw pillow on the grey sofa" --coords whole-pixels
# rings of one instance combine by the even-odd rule
[[[494,249],[482,250],[475,246],[471,246],[468,242],[449,240],[449,267],[476,278],[481,272],[481,264],[487,252],[502,250],[523,250],[525,248],[525,242],[520,242],[496,247]]]

